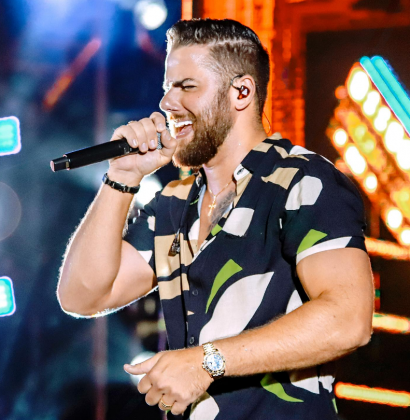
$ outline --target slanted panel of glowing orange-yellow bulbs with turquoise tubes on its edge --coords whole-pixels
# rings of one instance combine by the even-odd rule
[[[382,57],[362,57],[326,131],[398,242],[410,245],[410,98]]]

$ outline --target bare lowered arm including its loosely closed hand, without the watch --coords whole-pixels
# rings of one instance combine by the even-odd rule
[[[226,375],[302,369],[336,359],[365,345],[372,331],[373,282],[369,258],[353,248],[311,255],[297,266],[310,301],[238,336],[215,341]],[[180,414],[212,382],[202,369],[202,347],[157,353],[127,372],[146,373],[138,389],[148,404],[160,399]]]

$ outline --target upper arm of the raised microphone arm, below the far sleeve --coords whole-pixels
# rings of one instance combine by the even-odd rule
[[[148,261],[152,251],[137,251],[122,241],[121,263],[110,293],[104,299],[104,309],[121,308],[145,296],[157,285],[154,270]]]

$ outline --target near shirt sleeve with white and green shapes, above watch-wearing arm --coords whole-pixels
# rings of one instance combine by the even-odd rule
[[[298,264],[331,249],[366,251],[364,206],[352,181],[318,155],[298,166],[280,221],[284,258]]]

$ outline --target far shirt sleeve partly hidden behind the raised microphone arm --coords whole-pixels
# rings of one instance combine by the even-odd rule
[[[131,244],[141,256],[147,261],[155,272],[155,215],[157,202],[160,192],[143,209],[138,211],[137,217],[134,217],[128,225],[128,230],[124,236],[124,241]]]

